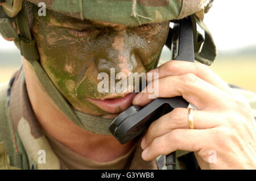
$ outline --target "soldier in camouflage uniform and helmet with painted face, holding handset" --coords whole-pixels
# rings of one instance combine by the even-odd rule
[[[196,162],[200,169],[256,168],[255,94],[230,88],[203,64],[156,68],[170,20],[188,15],[206,32],[201,52],[195,36],[197,60],[214,60],[201,22],[213,1],[0,2],[0,32],[23,55],[0,91],[1,169],[164,169],[160,155],[172,151],[176,169],[196,169]],[[39,16],[39,2],[46,16]],[[120,145],[108,131],[114,117],[152,100],[147,92],[98,92],[98,73],[112,68],[159,73],[159,97],[183,96],[197,110],[176,108]]]

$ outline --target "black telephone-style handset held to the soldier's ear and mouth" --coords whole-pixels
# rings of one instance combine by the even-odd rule
[[[174,22],[174,28],[170,31],[172,60],[193,62],[195,57],[191,17]],[[109,131],[121,144],[125,144],[146,131],[152,121],[171,112],[174,108],[187,108],[188,105],[189,103],[182,96],[157,98],[143,108],[134,105],[113,120]],[[173,170],[175,164],[175,152],[168,154],[166,156],[167,169]]]

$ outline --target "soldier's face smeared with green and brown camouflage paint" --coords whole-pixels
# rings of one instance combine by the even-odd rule
[[[99,92],[98,74],[110,77],[111,68],[126,75],[155,68],[168,30],[169,22],[125,27],[47,11],[36,17],[32,34],[44,70],[68,102],[76,110],[111,117],[131,106],[134,94]]]

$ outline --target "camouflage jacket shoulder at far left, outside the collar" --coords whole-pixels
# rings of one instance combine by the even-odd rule
[[[9,114],[10,91],[14,79],[11,78],[10,83],[0,83],[0,169],[28,169],[27,155],[20,153],[23,145]]]

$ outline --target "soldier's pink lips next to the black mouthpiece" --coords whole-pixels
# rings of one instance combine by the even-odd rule
[[[125,111],[130,106],[132,106],[131,101],[133,100],[136,94],[137,93],[135,92],[131,92],[125,95],[123,98],[117,98],[117,99],[105,99],[105,100],[92,99],[92,98],[86,98],[86,99],[105,112],[120,113],[122,111]]]

